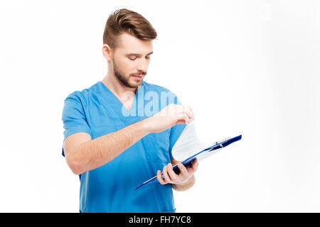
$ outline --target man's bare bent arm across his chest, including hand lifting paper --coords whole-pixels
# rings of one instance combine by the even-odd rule
[[[80,175],[110,162],[149,133],[159,133],[189,121],[193,121],[190,107],[171,104],[154,116],[94,140],[87,133],[69,135],[63,150],[70,169]]]

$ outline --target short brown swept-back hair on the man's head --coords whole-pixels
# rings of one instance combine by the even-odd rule
[[[154,40],[156,30],[142,15],[128,9],[118,9],[110,14],[105,24],[103,44],[110,48],[117,47],[117,38],[122,33],[129,33],[140,40]]]

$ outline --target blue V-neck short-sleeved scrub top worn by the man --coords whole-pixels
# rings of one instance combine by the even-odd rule
[[[105,84],[97,82],[65,99],[64,138],[85,132],[95,139],[142,121],[171,103],[180,104],[174,93],[142,82],[127,111]],[[80,212],[176,212],[171,184],[156,182],[134,189],[171,162],[171,149],[185,126],[146,135],[114,160],[79,175]]]

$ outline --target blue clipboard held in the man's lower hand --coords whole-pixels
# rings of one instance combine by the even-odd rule
[[[192,165],[192,161],[195,160],[196,158],[198,160],[204,160],[207,157],[209,157],[210,155],[213,155],[214,153],[218,152],[222,148],[225,148],[226,146],[230,145],[231,143],[235,143],[236,141],[241,140],[241,138],[242,138],[242,135],[238,135],[233,138],[225,138],[224,140],[220,140],[218,142],[215,142],[210,147],[205,148],[205,149],[201,150],[200,152],[196,153],[195,155],[192,155],[191,157],[186,158],[181,163],[184,166],[189,167]],[[176,172],[176,174],[180,173],[180,169],[178,168],[178,165],[174,165],[174,167],[172,167],[172,168],[173,168],[174,172]],[[162,176],[163,176],[163,174],[161,173],[161,177]],[[143,187],[146,184],[150,184],[151,182],[158,182],[156,179],[156,176],[154,176],[154,177],[146,180],[142,184],[140,184],[137,188],[134,189],[134,191]]]

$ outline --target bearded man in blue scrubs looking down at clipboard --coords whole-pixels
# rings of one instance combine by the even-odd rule
[[[103,35],[106,77],[65,99],[63,155],[80,177],[80,212],[175,212],[172,188],[194,184],[198,162],[178,164],[176,175],[171,154],[193,111],[143,81],[155,38],[139,13],[112,13]],[[159,182],[134,190],[155,174]]]

